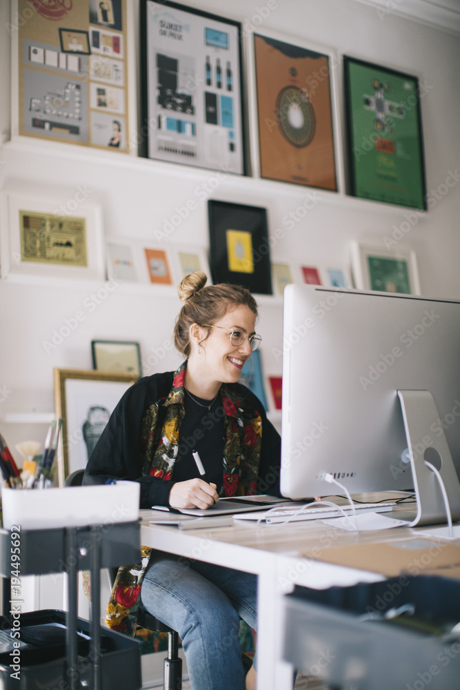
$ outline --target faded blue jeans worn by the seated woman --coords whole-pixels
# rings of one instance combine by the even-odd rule
[[[179,633],[193,690],[244,690],[239,620],[257,629],[257,575],[154,552],[143,606]]]

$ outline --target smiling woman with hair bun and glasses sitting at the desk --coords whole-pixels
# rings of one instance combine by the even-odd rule
[[[88,462],[85,483],[139,482],[141,508],[206,509],[219,495],[279,495],[279,434],[257,397],[238,384],[261,341],[257,304],[246,288],[205,284],[204,273],[192,273],[179,286],[184,304],[174,344],[186,361],[123,395]],[[143,566],[119,572],[110,626],[133,632],[140,593],[143,606],[179,633],[193,690],[243,690],[239,620],[257,627],[256,576],[143,553]],[[246,687],[255,687],[254,669]]]

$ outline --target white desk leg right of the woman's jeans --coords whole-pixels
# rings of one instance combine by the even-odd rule
[[[292,669],[281,658],[281,584],[270,559],[259,575],[257,690],[292,690]]]

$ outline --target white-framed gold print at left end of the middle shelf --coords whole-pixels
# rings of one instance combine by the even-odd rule
[[[59,213],[59,199],[2,195],[1,275],[104,280],[102,213],[81,204]]]

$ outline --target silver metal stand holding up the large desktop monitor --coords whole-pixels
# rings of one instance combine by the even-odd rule
[[[410,526],[425,524],[446,524],[446,505],[434,472],[426,462],[439,471],[450,505],[452,522],[460,520],[460,482],[454,467],[446,435],[442,428],[437,434],[431,431],[438,422],[439,413],[429,391],[397,391],[401,402],[408,457],[412,468],[414,491],[417,497],[417,513],[401,513],[403,520],[412,520]],[[420,450],[420,452],[419,452]],[[391,513],[395,517],[395,513]],[[406,517],[403,517],[406,515]]]

